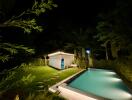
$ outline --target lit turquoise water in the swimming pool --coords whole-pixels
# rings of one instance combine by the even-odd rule
[[[128,87],[113,71],[90,69],[68,86],[111,100],[132,100]]]

